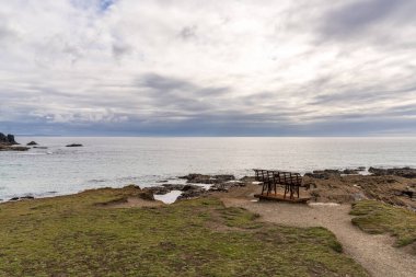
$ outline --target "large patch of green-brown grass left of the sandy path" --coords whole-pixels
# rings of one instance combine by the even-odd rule
[[[367,276],[323,228],[256,221],[216,198],[106,208],[137,188],[0,205],[0,276]]]

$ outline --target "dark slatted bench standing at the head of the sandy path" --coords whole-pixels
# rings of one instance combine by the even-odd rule
[[[254,170],[255,180],[261,182],[262,195],[277,195],[277,186],[285,187],[284,198],[289,194],[293,199],[294,195],[299,198],[299,188],[302,186],[302,176],[299,173],[270,170]]]

